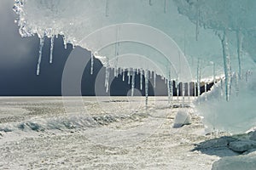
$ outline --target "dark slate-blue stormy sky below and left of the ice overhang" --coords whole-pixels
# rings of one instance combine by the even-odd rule
[[[61,77],[65,62],[73,48],[70,44],[64,48],[62,37],[55,38],[54,60],[49,64],[49,39],[46,38],[43,48],[40,75],[36,75],[38,63],[39,39],[20,37],[19,27],[15,23],[18,15],[12,10],[12,0],[0,1],[0,96],[48,96],[61,95]],[[90,58],[90,52],[84,50],[84,57]],[[102,63],[95,59],[94,74],[90,75],[90,65],[86,65],[81,80],[83,95],[95,95],[95,80],[100,76],[102,86],[100,95],[107,95],[103,86],[105,75],[97,75]],[[113,76],[113,71],[111,72]],[[150,95],[165,95],[166,85],[157,77],[157,88],[149,84]],[[136,77],[136,88],[139,89],[139,76]],[[131,84],[122,81],[122,77],[113,79],[110,86],[111,95],[127,95]],[[157,93],[156,93],[157,92]],[[137,90],[137,94],[144,94]],[[72,95],[72,94],[70,94]]]

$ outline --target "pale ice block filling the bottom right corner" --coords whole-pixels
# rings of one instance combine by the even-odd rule
[[[212,165],[212,170],[255,170],[256,151],[245,156],[227,156]]]

